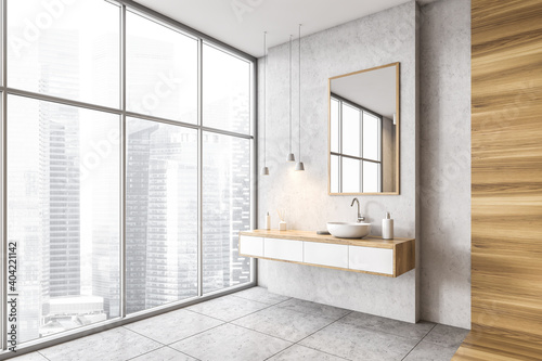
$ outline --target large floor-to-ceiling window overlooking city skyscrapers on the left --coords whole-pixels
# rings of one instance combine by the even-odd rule
[[[254,59],[138,5],[4,1],[3,349],[254,282]]]

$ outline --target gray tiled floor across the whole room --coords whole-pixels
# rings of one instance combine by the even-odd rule
[[[254,287],[12,360],[448,361],[467,333]]]

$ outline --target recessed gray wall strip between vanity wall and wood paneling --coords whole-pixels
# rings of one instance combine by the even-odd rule
[[[470,328],[470,0],[420,24],[421,317]]]

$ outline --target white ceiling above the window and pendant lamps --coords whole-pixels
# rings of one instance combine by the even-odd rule
[[[215,39],[254,56],[268,48],[349,21],[397,7],[409,0],[136,0]],[[423,3],[431,0],[421,0]]]

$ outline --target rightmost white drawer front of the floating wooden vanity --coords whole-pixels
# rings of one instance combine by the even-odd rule
[[[348,246],[348,268],[393,274],[393,249]]]

